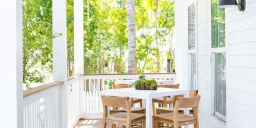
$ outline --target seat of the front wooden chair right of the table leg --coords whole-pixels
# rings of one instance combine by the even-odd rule
[[[165,113],[165,114],[156,114],[153,116],[155,119],[162,119],[164,121],[174,122],[174,113]],[[195,122],[195,118],[192,116],[187,116],[185,114],[178,114],[178,122],[184,123],[184,122]],[[189,123],[190,124],[190,123]]]

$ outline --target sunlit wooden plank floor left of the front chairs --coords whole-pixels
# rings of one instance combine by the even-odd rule
[[[102,120],[80,120],[75,128],[102,128]],[[191,125],[190,128],[194,128],[194,126]]]

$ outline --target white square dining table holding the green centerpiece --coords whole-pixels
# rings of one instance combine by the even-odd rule
[[[119,96],[119,97],[132,97],[145,99],[145,108],[146,108],[146,128],[152,128],[152,99],[155,97],[164,97],[164,96],[174,96],[174,95],[184,95],[189,97],[188,90],[182,89],[167,89],[159,87],[157,91],[142,91],[135,90],[134,88],[126,89],[111,89],[104,91],[104,94],[107,96]],[[189,114],[189,109],[185,109],[184,114]]]

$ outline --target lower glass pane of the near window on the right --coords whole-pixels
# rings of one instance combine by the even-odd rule
[[[226,57],[215,54],[215,111],[226,116]]]

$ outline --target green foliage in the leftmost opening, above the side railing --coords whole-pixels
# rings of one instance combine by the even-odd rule
[[[23,1],[23,82],[42,83],[52,74],[52,1]]]

